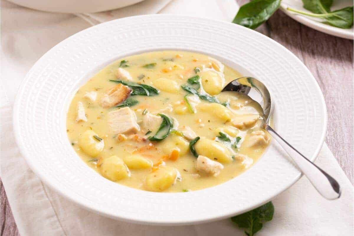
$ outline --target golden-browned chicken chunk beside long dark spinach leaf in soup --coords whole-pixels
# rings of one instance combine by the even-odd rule
[[[109,108],[123,102],[129,97],[131,89],[128,86],[118,84],[110,88],[101,98],[101,107]]]

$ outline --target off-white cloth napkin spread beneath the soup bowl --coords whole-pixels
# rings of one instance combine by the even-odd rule
[[[191,226],[147,226],[112,220],[79,208],[48,189],[29,169],[14,140],[11,111],[18,87],[35,61],[90,24],[148,13],[231,21],[237,10],[233,0],[146,0],[119,10],[74,16],[30,10],[1,1],[1,178],[22,236],[244,235],[229,219]],[[302,178],[275,197],[274,219],[257,235],[353,234],[352,184],[326,144],[316,163],[338,180],[343,188],[342,197],[327,201]]]

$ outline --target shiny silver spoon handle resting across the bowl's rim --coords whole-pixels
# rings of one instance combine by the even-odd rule
[[[298,168],[304,175],[306,175],[312,185],[323,197],[329,200],[334,200],[341,196],[341,187],[335,179],[286,142],[272,127],[267,125],[265,129],[282,146],[282,148],[284,148],[287,154],[291,156]]]

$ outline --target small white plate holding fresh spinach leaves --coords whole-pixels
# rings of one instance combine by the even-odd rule
[[[308,17],[308,16],[302,16],[299,14],[296,14],[295,12],[291,12],[286,10],[287,7],[291,7],[300,11],[306,11],[305,8],[302,7],[302,1],[301,0],[282,0],[280,4],[280,9],[288,16],[293,18],[295,21],[298,21],[304,25],[307,25],[310,28],[316,29],[318,31],[321,31],[326,34],[334,35],[337,37],[345,38],[345,39],[354,39],[354,30],[353,27],[351,29],[341,29],[337,28],[331,25],[327,25],[324,23],[321,23],[321,19],[314,18],[314,17]],[[353,1],[352,0],[337,0],[333,1],[333,6],[331,7],[331,10],[338,10],[347,6],[353,6]]]

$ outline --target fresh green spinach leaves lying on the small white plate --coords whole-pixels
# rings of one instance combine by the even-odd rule
[[[323,23],[334,27],[349,29],[353,25],[353,6],[344,7],[336,11],[330,11],[331,0],[303,0],[304,8],[313,12],[299,11],[288,7],[287,10],[299,13],[305,16],[311,16],[324,19]]]

